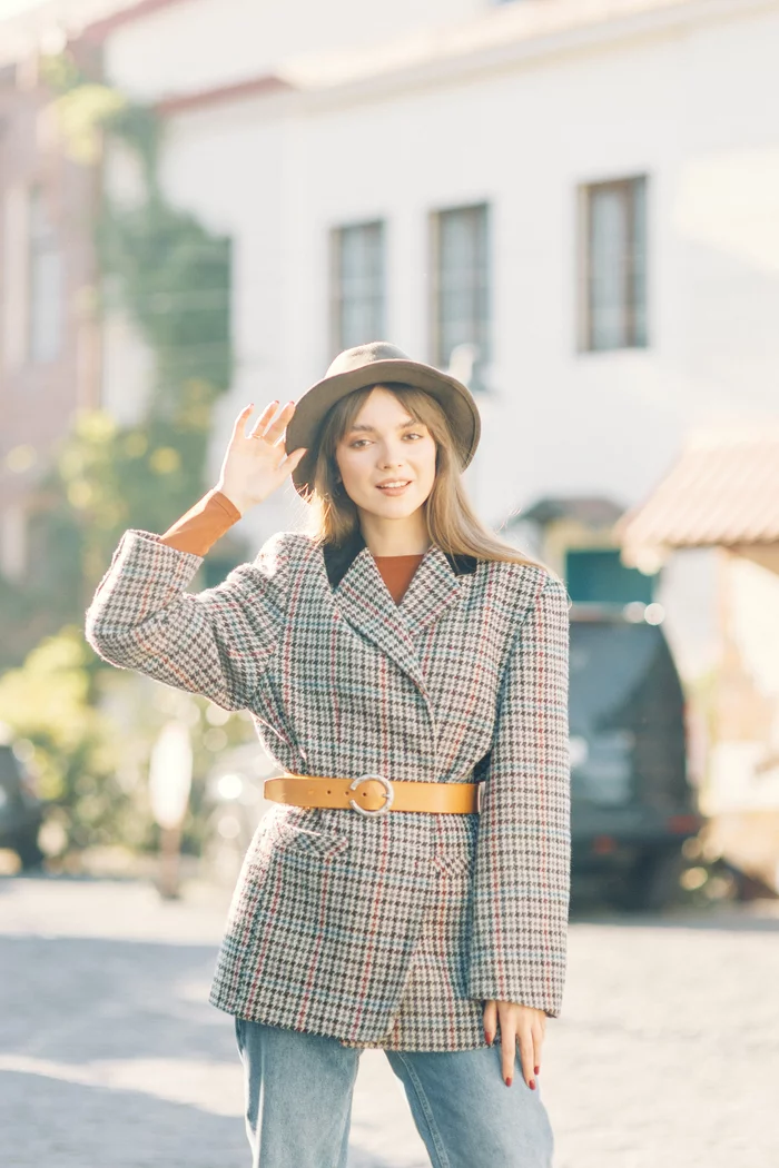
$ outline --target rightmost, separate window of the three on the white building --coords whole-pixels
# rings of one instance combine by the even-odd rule
[[[583,349],[647,343],[646,187],[635,178],[582,188]]]

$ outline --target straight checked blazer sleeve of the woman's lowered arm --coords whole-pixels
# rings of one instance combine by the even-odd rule
[[[548,576],[508,654],[482,792],[468,995],[557,1017],[570,899],[569,598]]]

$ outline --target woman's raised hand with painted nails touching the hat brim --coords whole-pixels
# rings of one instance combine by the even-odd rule
[[[273,417],[278,404],[266,405],[248,434],[253,404],[241,411],[232,427],[217,487],[242,515],[267,499],[306,453],[306,447],[300,446],[287,454],[283,436],[294,413],[294,402],[287,402]]]

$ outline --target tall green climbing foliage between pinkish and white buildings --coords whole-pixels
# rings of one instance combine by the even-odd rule
[[[230,383],[232,354],[229,241],[160,192],[154,111],[91,79],[67,53],[47,58],[44,74],[71,153],[90,159],[120,144],[139,164],[137,202],[104,194],[96,250],[104,307],[130,317],[153,359],[142,419],[118,426],[104,412],[82,415],[46,485],[44,570],[33,592],[50,632],[54,621],[82,619],[126,528],[165,530],[202,494],[211,409]],[[19,612],[27,603],[9,599]]]

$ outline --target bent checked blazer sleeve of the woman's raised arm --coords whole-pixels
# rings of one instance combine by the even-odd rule
[[[285,620],[284,533],[217,588],[185,591],[201,563],[158,535],[125,531],[86,612],[86,639],[111,665],[244,709]]]

